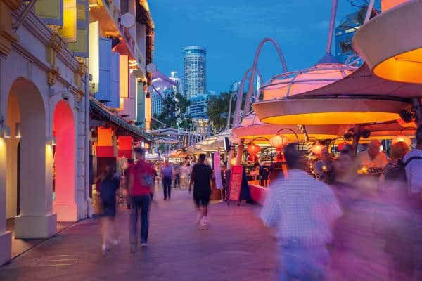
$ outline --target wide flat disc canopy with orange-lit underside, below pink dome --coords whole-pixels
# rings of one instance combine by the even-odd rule
[[[324,97],[265,100],[252,107],[265,123],[328,125],[396,120],[399,111],[409,104],[397,100]]]

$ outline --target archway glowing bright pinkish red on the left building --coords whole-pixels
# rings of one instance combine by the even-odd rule
[[[53,114],[54,202],[53,212],[58,221],[77,221],[75,202],[75,122],[70,106],[60,100]]]

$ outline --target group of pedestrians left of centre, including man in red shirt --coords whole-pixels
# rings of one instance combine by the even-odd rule
[[[123,176],[116,172],[114,162],[107,164],[103,174],[97,179],[97,189],[103,209],[101,218],[101,249],[106,254],[110,245],[120,243],[115,217],[117,214],[117,190],[121,183],[126,194],[127,209],[130,209],[129,242],[130,251],[134,253],[138,242],[141,247],[147,247],[149,212],[151,204],[157,204],[155,185],[162,183],[164,200],[171,199],[172,183],[174,188],[186,189],[191,192],[193,185],[193,201],[198,212],[198,228],[207,226],[207,206],[214,186],[215,177],[209,165],[205,164],[205,155],[201,154],[198,163],[191,166],[190,162],[177,163],[174,166],[165,160],[162,166],[154,166],[146,162],[142,148],[134,149],[135,160],[127,161]],[[192,169],[191,169],[192,168]],[[120,181],[122,179],[122,182]],[[138,233],[138,221],[141,227]]]

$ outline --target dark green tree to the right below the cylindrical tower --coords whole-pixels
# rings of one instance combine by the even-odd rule
[[[207,115],[210,117],[210,122],[214,126],[217,132],[224,131],[227,124],[227,115],[229,113],[231,93],[220,93],[219,96],[212,96],[207,107]],[[233,94],[233,100],[231,100],[231,117],[230,120],[233,122],[234,107],[236,106],[236,94]]]

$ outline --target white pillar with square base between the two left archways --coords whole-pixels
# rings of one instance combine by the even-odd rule
[[[15,90],[22,120],[20,215],[15,218],[15,237],[51,237],[57,232],[57,216],[52,212],[53,148],[46,130],[51,115],[46,115],[44,105],[39,108],[41,97],[36,98],[39,92],[32,87]]]

